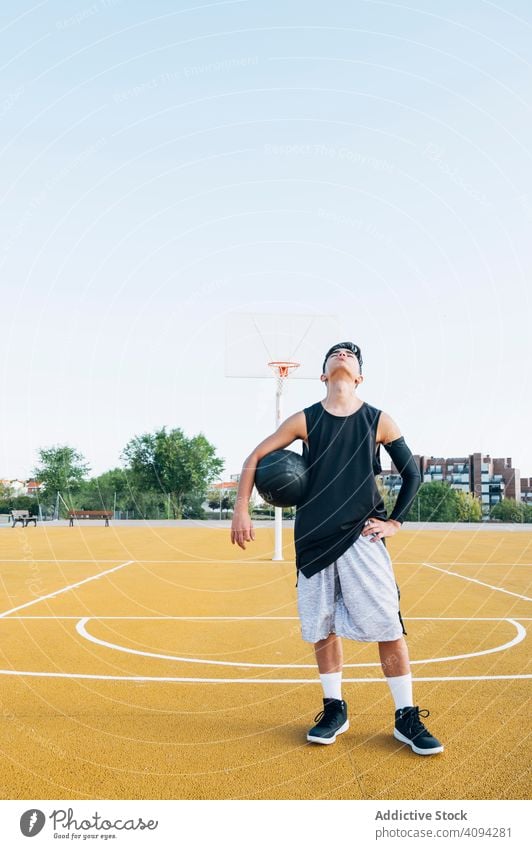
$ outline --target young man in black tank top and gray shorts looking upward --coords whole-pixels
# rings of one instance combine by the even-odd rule
[[[360,348],[352,342],[334,345],[322,372],[325,399],[290,416],[244,462],[231,541],[245,549],[255,539],[248,504],[259,460],[302,439],[310,482],[294,530],[298,611],[303,639],[314,644],[323,687],[323,710],[307,740],[334,743],[349,728],[341,690],[341,638],[346,637],[378,643],[395,703],[394,737],[416,754],[433,755],[443,746],[420,719],[428,711],[414,706],[399,590],[383,542],[400,529],[419,488],[419,470],[393,419],[356,395],[364,379]],[[375,481],[381,444],[402,477],[389,518]]]

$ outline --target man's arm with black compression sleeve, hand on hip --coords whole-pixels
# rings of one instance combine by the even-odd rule
[[[387,520],[371,517],[362,531],[363,536],[371,536],[372,542],[397,533],[408,515],[421,484],[421,474],[412,452],[404,437],[401,436],[398,426],[387,413],[381,413],[379,418],[377,443],[384,445],[402,480],[401,489],[390,517]]]

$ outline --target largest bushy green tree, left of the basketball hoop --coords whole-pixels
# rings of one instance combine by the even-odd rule
[[[187,438],[180,428],[144,433],[132,439],[122,453],[139,490],[170,498],[174,519],[180,519],[186,497],[205,498],[208,485],[219,477],[224,462],[200,433]]]

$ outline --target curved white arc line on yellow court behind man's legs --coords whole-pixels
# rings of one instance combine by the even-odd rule
[[[180,657],[178,655],[173,654],[159,654],[157,652],[149,652],[149,651],[141,651],[140,649],[132,649],[127,646],[122,646],[119,643],[109,643],[107,640],[100,640],[99,637],[95,637],[93,634],[90,634],[87,631],[86,625],[90,622],[92,617],[86,616],[83,619],[80,619],[78,624],[76,625],[76,631],[78,634],[83,637],[85,640],[88,640],[91,643],[94,643],[97,646],[103,646],[104,648],[111,649],[113,651],[124,652],[125,654],[134,654],[139,657],[153,657],[156,660],[173,660],[178,663],[195,663],[200,666],[236,666],[242,669],[315,669],[315,663],[240,663],[237,661],[231,660],[204,660],[202,658],[197,657]],[[431,620],[428,620],[431,621]],[[512,646],[517,645],[522,642],[526,637],[526,629],[520,625],[518,622],[515,622],[513,619],[501,619],[501,622],[509,622],[511,623],[517,631],[515,637],[507,643],[504,643],[500,646],[495,646],[492,649],[484,649],[483,651],[477,652],[469,652],[468,654],[455,654],[450,655],[449,657],[432,657],[423,660],[411,660],[411,664],[422,664],[422,663],[445,663],[448,660],[465,660],[468,657],[481,657],[485,654],[496,654],[500,651],[505,651],[506,649],[512,648]],[[355,668],[355,667],[370,667],[370,666],[378,666],[380,667],[380,662],[378,663],[344,663],[344,669]]]

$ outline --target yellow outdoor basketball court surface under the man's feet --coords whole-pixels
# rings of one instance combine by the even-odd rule
[[[300,636],[292,531],[0,532],[3,799],[525,799],[532,533],[388,540],[415,703],[445,752],[394,740],[377,646],[344,642],[351,727]]]

